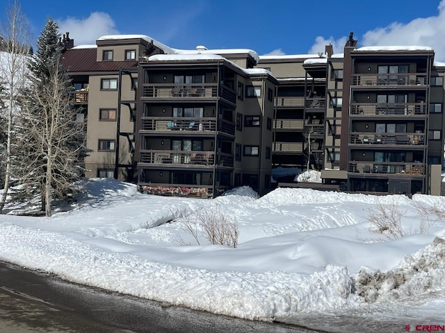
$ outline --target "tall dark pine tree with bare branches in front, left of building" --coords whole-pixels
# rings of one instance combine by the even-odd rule
[[[76,121],[77,110],[70,103],[72,83],[62,67],[59,37],[58,25],[48,19],[29,64],[31,89],[20,118],[22,188],[15,199],[40,196],[47,216],[51,216],[51,200],[76,192],[73,182],[83,173],[77,162],[86,153],[84,123]]]

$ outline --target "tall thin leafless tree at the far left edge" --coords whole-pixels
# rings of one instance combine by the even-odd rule
[[[0,95],[2,104],[5,105],[2,114],[6,123],[6,135],[2,142],[5,171],[4,187],[0,200],[0,214],[6,204],[10,178],[12,173],[12,146],[14,139],[13,118],[19,108],[21,92],[26,85],[27,54],[29,52],[30,32],[29,23],[22,14],[19,1],[15,0],[6,10],[6,21],[0,24],[0,77],[3,79],[3,92]]]

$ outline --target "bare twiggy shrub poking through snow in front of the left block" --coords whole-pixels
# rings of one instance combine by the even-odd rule
[[[232,248],[238,246],[238,224],[219,206],[207,207],[188,216],[184,221],[184,230],[193,236],[198,245],[202,234],[210,244]],[[186,245],[182,239],[179,242]]]

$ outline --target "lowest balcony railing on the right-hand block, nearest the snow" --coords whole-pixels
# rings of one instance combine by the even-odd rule
[[[423,176],[423,163],[412,162],[349,162],[349,172],[366,173],[391,173],[401,176]]]

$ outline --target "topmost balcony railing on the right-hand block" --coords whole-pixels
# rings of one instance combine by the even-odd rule
[[[426,85],[425,73],[394,73],[394,74],[354,74],[353,86],[382,85]]]

